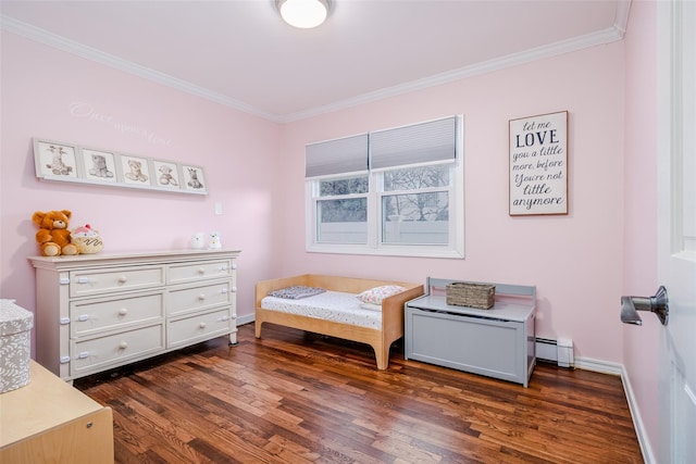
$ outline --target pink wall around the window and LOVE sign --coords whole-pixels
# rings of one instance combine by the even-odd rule
[[[291,124],[289,180],[275,236],[277,276],[307,271],[422,283],[430,276],[536,285],[537,334],[569,337],[575,355],[621,362],[623,250],[622,42]],[[508,121],[570,112],[567,216],[508,214]],[[304,252],[303,146],[456,113],[464,115],[465,259]]]

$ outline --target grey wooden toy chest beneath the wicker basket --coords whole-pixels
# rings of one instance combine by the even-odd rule
[[[406,304],[406,358],[529,385],[536,364],[536,287],[494,284],[489,310],[447,304],[455,280],[427,279]]]

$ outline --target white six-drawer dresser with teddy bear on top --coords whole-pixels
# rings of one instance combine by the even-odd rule
[[[36,360],[71,380],[228,335],[238,250],[33,256]]]

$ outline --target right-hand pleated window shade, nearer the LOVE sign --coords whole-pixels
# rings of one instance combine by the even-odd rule
[[[431,121],[370,135],[371,168],[457,159],[457,117]]]

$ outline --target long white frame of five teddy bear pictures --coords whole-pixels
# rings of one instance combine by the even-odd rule
[[[202,166],[34,138],[39,180],[208,195]]]

